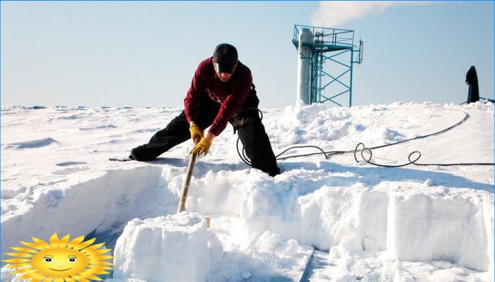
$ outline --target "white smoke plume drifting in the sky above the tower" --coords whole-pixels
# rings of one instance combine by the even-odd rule
[[[349,20],[378,14],[391,6],[424,6],[430,1],[321,1],[311,23],[318,27],[339,27]]]

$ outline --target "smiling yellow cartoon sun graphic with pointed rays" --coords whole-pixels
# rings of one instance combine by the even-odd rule
[[[106,270],[112,269],[112,263],[105,261],[112,259],[110,249],[98,250],[105,243],[93,244],[95,238],[84,241],[84,236],[69,241],[69,234],[59,239],[57,233],[50,237],[50,243],[31,237],[33,243],[21,243],[26,247],[11,247],[17,252],[8,252],[6,255],[14,259],[2,260],[8,262],[8,268],[16,269],[13,274],[23,274],[17,280],[30,279],[30,282],[54,281],[73,282],[103,279],[97,274],[109,274]]]

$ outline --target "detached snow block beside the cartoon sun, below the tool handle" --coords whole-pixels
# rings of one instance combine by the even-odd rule
[[[199,214],[134,219],[117,239],[113,278],[204,282],[210,270],[209,231]]]

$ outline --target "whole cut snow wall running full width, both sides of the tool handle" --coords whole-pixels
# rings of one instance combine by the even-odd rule
[[[400,261],[445,261],[475,271],[494,267],[488,192],[473,197],[458,188],[400,181],[370,187],[349,171],[301,168],[301,177],[270,178],[254,169],[212,172],[208,164],[197,165],[187,211],[207,214],[213,224],[216,217],[237,217],[235,228],[247,236],[270,231],[316,250],[339,252],[347,244],[386,251]],[[96,234],[113,247],[129,221],[175,214],[184,177],[182,168],[144,165],[25,195],[27,209],[2,215],[2,259],[19,238],[54,232]]]

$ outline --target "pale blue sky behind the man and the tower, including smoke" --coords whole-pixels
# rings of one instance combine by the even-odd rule
[[[199,61],[238,48],[262,108],[296,102],[294,25],[354,30],[353,105],[494,97],[494,1],[1,1],[1,104],[182,107]]]

